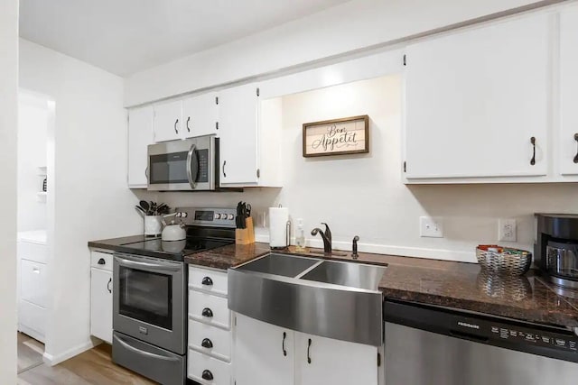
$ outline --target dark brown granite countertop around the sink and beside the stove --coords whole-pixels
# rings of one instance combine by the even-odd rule
[[[143,235],[117,238],[89,243],[89,246],[115,250],[122,243],[138,242],[143,238]],[[318,249],[309,250],[310,253],[304,254],[314,258],[353,261],[350,253],[344,256],[325,256]],[[187,255],[185,262],[226,270],[267,252],[270,252],[267,243],[230,244]],[[294,247],[284,253],[303,254],[296,252]],[[554,285],[547,283],[532,270],[524,277],[504,280],[485,275],[480,265],[475,263],[366,252],[359,253],[356,261],[387,264],[387,270],[379,282],[379,289],[385,298],[507,316],[538,324],[578,327],[578,298],[560,295]]]

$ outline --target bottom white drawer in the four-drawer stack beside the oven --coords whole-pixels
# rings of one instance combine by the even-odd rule
[[[187,375],[191,380],[199,381],[201,384],[230,385],[230,366],[230,363],[189,349]],[[210,376],[212,380],[204,380],[203,372],[205,377]]]

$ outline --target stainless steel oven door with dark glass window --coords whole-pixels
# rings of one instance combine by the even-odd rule
[[[115,253],[113,272],[113,329],[184,354],[184,263]]]

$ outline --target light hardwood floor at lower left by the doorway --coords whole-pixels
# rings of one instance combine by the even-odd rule
[[[148,385],[155,382],[111,361],[111,347],[100,344],[56,366],[42,363],[18,374],[18,385]]]

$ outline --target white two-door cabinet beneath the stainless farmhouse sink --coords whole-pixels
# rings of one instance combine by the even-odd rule
[[[307,335],[236,315],[237,385],[378,385],[377,346]]]

